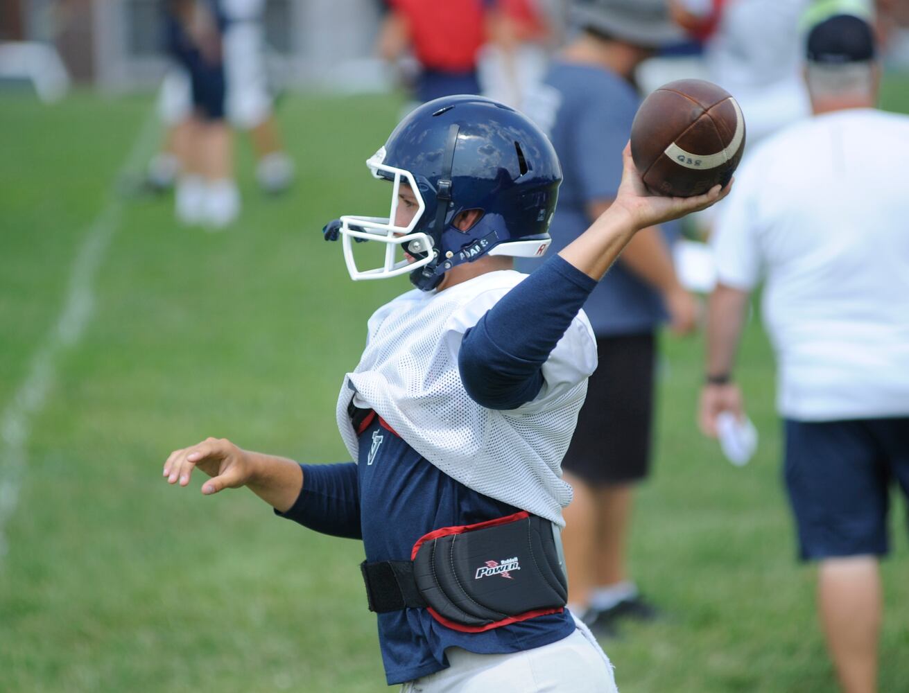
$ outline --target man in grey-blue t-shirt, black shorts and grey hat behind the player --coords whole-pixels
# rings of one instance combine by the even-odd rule
[[[618,154],[640,104],[635,68],[681,34],[664,0],[575,0],[571,18],[578,33],[525,103],[564,170],[551,227],[555,252],[613,203]],[[634,489],[649,473],[656,332],[667,317],[680,334],[695,326],[696,303],[669,252],[675,235],[675,224],[638,233],[584,306],[599,366],[563,461],[574,488],[564,549],[570,607],[600,635],[614,632],[619,617],[653,615],[629,573],[626,544]]]

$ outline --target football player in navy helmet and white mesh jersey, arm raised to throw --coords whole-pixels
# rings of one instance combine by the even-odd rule
[[[724,197],[654,197],[624,151],[615,202],[532,276],[562,172],[524,115],[479,96],[424,104],[367,162],[391,183],[387,218],[342,216],[355,280],[409,273],[345,375],[336,418],[355,461],[297,464],[208,439],[175,450],[203,493],[247,486],[282,517],[363,540],[387,682],[422,691],[615,690],[612,668],[564,609],[558,530],[594,335],[581,307],[634,233]],[[381,267],[355,241],[385,244]],[[381,519],[381,521],[378,521]]]

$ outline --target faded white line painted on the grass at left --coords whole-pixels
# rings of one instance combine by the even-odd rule
[[[135,172],[152,153],[159,126],[155,113],[145,118],[125,162],[118,173]],[[93,283],[104,262],[120,221],[125,200],[116,182],[107,195],[101,213],[95,217],[75,252],[63,312],[32,357],[25,380],[15,391],[0,418],[0,562],[6,553],[6,523],[15,512],[19,490],[28,467],[27,448],[32,421],[44,410],[56,380],[56,367],[65,351],[82,339],[85,325],[95,308]]]

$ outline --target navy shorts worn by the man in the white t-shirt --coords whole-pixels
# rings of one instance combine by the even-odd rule
[[[909,417],[784,426],[801,558],[886,554],[894,481],[909,498]]]

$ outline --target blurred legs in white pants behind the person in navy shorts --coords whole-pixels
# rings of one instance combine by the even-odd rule
[[[227,121],[252,138],[259,186],[266,193],[281,193],[293,182],[295,166],[284,151],[275,122],[265,56],[265,0],[218,0],[213,7],[224,17]],[[182,64],[175,64],[165,75],[158,112],[167,128],[165,143],[149,163],[147,180],[153,189],[165,190],[180,171],[191,129],[192,80]]]

